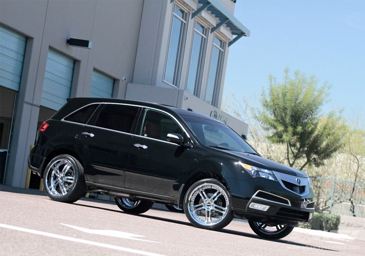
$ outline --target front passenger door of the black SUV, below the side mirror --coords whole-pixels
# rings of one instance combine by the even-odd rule
[[[182,126],[171,115],[155,109],[144,111],[142,125],[130,147],[125,188],[177,197],[179,178],[193,159],[189,148],[167,141],[168,133],[184,136]]]

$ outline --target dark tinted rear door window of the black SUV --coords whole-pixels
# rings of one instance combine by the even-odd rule
[[[138,107],[107,104],[96,119],[95,126],[130,133]]]

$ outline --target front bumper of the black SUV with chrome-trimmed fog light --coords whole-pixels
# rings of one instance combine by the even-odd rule
[[[290,177],[284,178],[290,180]],[[295,177],[293,180],[296,181]],[[227,181],[232,195],[232,210],[237,218],[276,224],[311,221],[315,197],[308,182],[304,182],[299,190],[294,183],[291,186],[282,179],[274,181],[255,177],[244,181],[228,178]]]

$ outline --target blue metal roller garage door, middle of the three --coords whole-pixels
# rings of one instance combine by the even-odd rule
[[[52,49],[48,51],[40,105],[58,110],[70,97],[74,60]]]

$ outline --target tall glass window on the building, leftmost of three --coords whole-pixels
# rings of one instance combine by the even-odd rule
[[[178,86],[182,66],[187,16],[183,9],[174,7],[164,81],[175,86]]]

